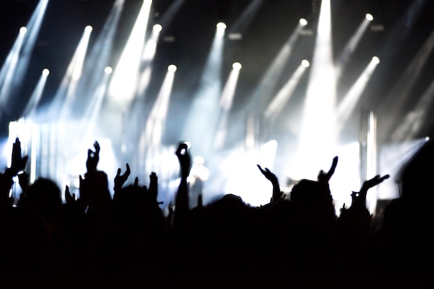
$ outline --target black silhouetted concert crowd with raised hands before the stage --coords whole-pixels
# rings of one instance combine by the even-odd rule
[[[168,212],[157,201],[158,177],[130,178],[118,169],[114,187],[98,170],[100,146],[87,152],[80,195],[55,180],[29,183],[19,139],[0,175],[0,288],[426,288],[433,269],[434,149],[427,142],[400,174],[401,197],[385,207],[380,226],[366,207],[365,180],[340,212],[329,180],[297,182],[289,196],[277,176],[270,202],[246,204],[234,194],[207,205],[189,203],[191,156],[175,154],[180,183]],[[18,178],[22,193],[10,196]],[[146,183],[147,185],[144,185]],[[111,191],[113,189],[113,191]],[[111,192],[113,194],[111,194]],[[266,194],[266,192],[264,192]],[[62,202],[62,196],[64,202]]]

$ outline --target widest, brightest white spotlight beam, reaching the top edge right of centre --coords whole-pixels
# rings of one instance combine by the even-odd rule
[[[333,115],[336,103],[336,77],[331,41],[331,3],[322,0],[313,50],[313,59],[306,88],[306,97],[298,136],[297,153],[291,178],[312,178],[312,165],[324,167],[336,156]],[[306,167],[309,163],[309,167]]]

